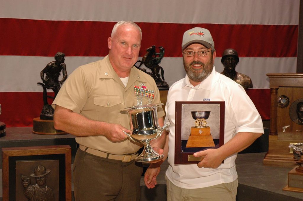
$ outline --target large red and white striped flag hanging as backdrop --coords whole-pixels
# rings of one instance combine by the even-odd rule
[[[226,48],[238,51],[236,71],[251,77],[247,93],[263,119],[270,115],[266,73],[296,72],[299,0],[0,0],[0,121],[32,126],[43,106],[40,72],[55,53],[65,53],[68,75],[102,59],[120,20],[142,28],[140,57],[151,45],[165,48],[160,66],[169,86],[185,76],[184,31],[210,30],[216,70]]]

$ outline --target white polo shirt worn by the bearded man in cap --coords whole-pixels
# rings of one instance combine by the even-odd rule
[[[193,86],[186,75],[168,91],[165,123],[169,124],[169,152],[166,171],[168,179],[176,186],[187,189],[203,188],[229,183],[237,179],[235,167],[237,154],[224,160],[218,168],[198,168],[197,164],[174,164],[175,157],[175,101],[225,101],[224,142],[238,132],[264,133],[263,123],[255,105],[243,87],[215,71],[199,85]]]

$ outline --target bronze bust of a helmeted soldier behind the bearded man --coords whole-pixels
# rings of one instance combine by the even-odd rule
[[[252,88],[252,82],[250,77],[242,73],[236,72],[235,68],[239,62],[238,53],[232,48],[224,50],[221,63],[224,65],[224,70],[221,74],[234,80],[236,83],[243,86],[244,89]]]

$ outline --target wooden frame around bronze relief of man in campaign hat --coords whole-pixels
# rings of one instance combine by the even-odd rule
[[[72,170],[69,145],[2,148],[2,200],[28,200],[23,193],[22,179],[29,178],[30,185],[36,185],[38,166],[44,166],[47,171],[46,186],[53,192],[55,201],[71,201]]]

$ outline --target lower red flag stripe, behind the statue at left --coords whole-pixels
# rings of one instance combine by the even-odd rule
[[[263,120],[270,119],[270,89],[247,89]],[[48,93],[54,96],[54,93]],[[2,114],[0,121],[6,127],[27,127],[33,125],[33,118],[39,117],[43,107],[42,92],[0,92]],[[48,100],[52,103],[52,99]]]

